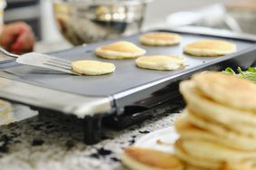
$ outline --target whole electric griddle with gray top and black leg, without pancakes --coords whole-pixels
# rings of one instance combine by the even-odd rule
[[[158,30],[180,33],[179,45],[153,47],[139,42],[140,34],[52,52],[56,57],[76,60],[110,61],[116,66],[112,74],[75,76],[37,67],[20,65],[15,60],[0,64],[0,97],[23,103],[34,109],[52,110],[73,115],[84,121],[84,141],[99,140],[103,120],[108,125],[126,127],[144,118],[158,116],[173,109],[181,95],[178,85],[199,71],[221,71],[226,67],[248,68],[256,60],[256,39],[237,34],[198,33],[181,30]],[[222,57],[194,57],[182,52],[182,47],[202,39],[233,42],[237,52]],[[136,67],[134,60],[106,60],[94,54],[96,47],[117,41],[129,41],[146,50],[147,55],[179,55],[186,66],[177,71],[153,71]],[[162,109],[160,109],[162,108]],[[175,108],[175,107],[174,107]],[[44,111],[41,113],[44,114]]]

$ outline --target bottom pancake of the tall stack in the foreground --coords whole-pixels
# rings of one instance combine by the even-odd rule
[[[251,153],[241,153],[237,150],[231,150],[228,147],[222,147],[218,144],[205,142],[202,140],[182,140],[179,138],[174,145],[175,154],[185,163],[197,166],[199,169],[237,169],[237,167],[246,167],[242,169],[253,169],[248,164]],[[225,167],[225,168],[224,168]]]

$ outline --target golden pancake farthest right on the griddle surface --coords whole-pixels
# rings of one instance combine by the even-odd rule
[[[236,52],[236,45],[220,40],[201,40],[184,46],[185,53],[194,56],[222,56]]]

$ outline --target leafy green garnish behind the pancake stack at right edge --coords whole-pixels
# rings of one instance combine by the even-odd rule
[[[241,71],[241,68],[238,67],[237,73],[233,71],[230,67],[228,67],[223,72],[239,76],[241,78],[251,80],[256,83],[256,69],[253,67],[249,67],[247,71]]]

